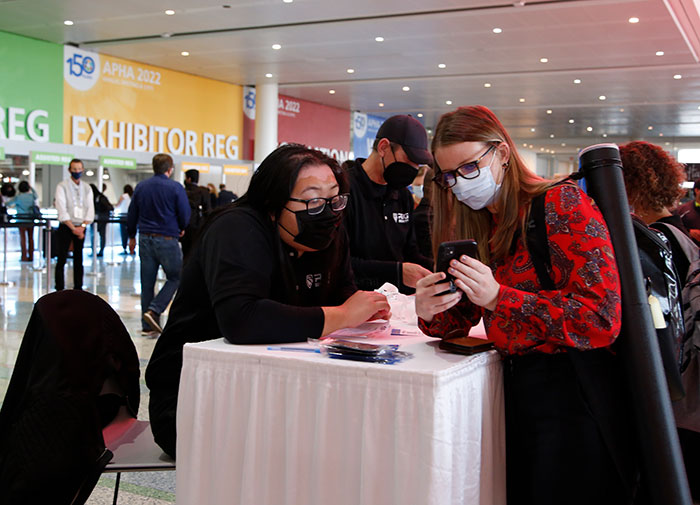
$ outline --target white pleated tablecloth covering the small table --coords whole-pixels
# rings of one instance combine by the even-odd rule
[[[391,341],[415,358],[185,346],[177,503],[504,504],[498,355],[448,354],[423,336]]]

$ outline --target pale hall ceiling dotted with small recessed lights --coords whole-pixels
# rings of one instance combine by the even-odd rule
[[[236,84],[269,72],[282,94],[422,113],[427,127],[483,104],[518,142],[559,154],[700,142],[696,27],[693,0],[0,0],[0,30]]]

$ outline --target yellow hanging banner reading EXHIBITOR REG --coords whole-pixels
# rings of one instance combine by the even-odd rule
[[[240,86],[73,46],[63,65],[66,144],[240,159]]]

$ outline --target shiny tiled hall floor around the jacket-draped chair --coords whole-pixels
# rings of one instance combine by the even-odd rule
[[[155,340],[141,336],[141,307],[138,257],[120,255],[121,247],[107,248],[104,258],[93,263],[90,249],[85,249],[86,290],[104,298],[120,315],[136,345],[141,360],[141,407],[139,419],[148,419],[148,389],[143,380]],[[114,254],[113,254],[114,252]],[[36,255],[38,263],[39,255]],[[0,249],[0,283],[3,275],[3,255]],[[29,321],[34,302],[47,293],[46,269],[35,270],[29,263],[20,263],[19,252],[7,254],[7,281],[0,286],[0,398],[5,397],[17,351]],[[39,267],[40,265],[35,265]],[[52,277],[53,268],[52,265]],[[97,273],[97,275],[94,275]],[[67,287],[72,287],[72,260],[66,267]],[[53,289],[53,279],[49,283]],[[114,474],[105,474],[88,500],[90,505],[111,504]],[[119,486],[120,504],[160,505],[175,502],[175,472],[139,472],[122,474]]]

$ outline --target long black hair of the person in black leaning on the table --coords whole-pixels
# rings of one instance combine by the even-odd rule
[[[338,181],[340,193],[348,192],[347,177],[336,160],[301,144],[286,144],[263,160],[250,180],[248,191],[234,205],[247,204],[277,219],[289,201],[301,169],[314,165],[328,165]]]

